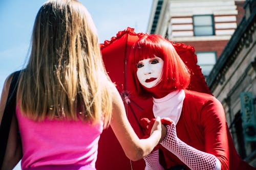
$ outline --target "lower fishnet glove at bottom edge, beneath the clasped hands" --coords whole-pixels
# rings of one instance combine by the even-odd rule
[[[164,170],[162,165],[159,163],[159,150],[153,150],[143,159],[146,163],[145,170]]]

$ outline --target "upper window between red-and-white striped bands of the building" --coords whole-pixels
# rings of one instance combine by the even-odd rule
[[[212,15],[193,16],[194,36],[214,35],[214,17]]]

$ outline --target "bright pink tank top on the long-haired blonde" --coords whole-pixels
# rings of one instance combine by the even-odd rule
[[[23,116],[18,107],[16,115],[23,145],[22,169],[49,165],[95,169],[102,121],[94,125],[48,118],[35,122]]]

